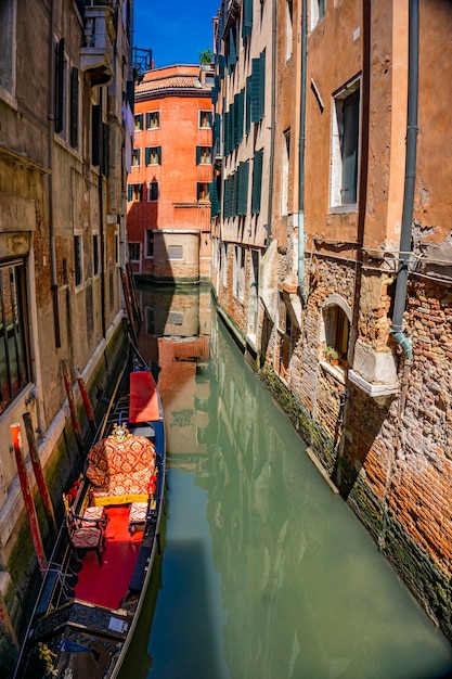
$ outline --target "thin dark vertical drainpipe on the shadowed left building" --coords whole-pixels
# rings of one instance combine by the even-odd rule
[[[60,313],[59,313],[59,282],[56,277],[55,235],[53,230],[53,136],[55,131],[55,2],[52,0],[50,10],[50,98],[49,98],[49,236],[50,236],[50,268],[51,291],[53,299],[53,324],[55,328],[55,346],[61,347]]]

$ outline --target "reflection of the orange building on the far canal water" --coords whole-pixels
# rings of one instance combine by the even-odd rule
[[[140,298],[139,347],[150,363],[158,363],[168,452],[206,454],[210,392],[203,375],[209,361],[210,292],[142,287]]]

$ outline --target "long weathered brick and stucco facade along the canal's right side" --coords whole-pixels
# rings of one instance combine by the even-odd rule
[[[443,0],[224,1],[212,222],[220,312],[450,639],[451,27]],[[247,69],[262,51],[253,121]],[[256,164],[260,134],[258,242],[255,172],[240,163]]]

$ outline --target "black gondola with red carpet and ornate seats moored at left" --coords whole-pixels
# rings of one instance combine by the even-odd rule
[[[165,507],[162,400],[130,343],[44,573],[15,679],[114,679],[160,549]]]

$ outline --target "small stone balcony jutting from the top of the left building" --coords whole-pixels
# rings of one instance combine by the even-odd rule
[[[80,63],[81,69],[89,72],[92,86],[107,85],[113,78],[114,41],[113,10],[106,5],[86,7]]]

